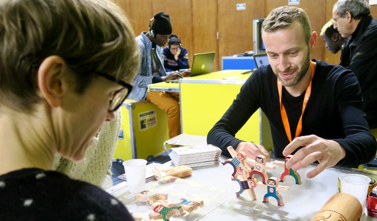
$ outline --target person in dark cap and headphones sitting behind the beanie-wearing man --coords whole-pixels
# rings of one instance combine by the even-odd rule
[[[163,66],[165,71],[178,71],[188,69],[188,52],[182,47],[178,36],[171,34],[167,46],[163,48]]]

